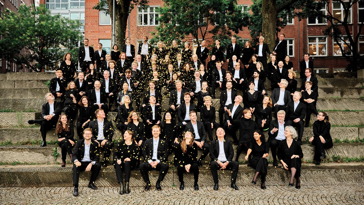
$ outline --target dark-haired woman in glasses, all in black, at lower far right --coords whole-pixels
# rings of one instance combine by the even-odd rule
[[[333,146],[330,129],[331,124],[327,113],[318,113],[317,120],[313,123],[313,137],[309,139],[309,142],[315,146],[313,160],[316,161],[316,165],[320,165],[321,160],[326,158],[325,149]]]

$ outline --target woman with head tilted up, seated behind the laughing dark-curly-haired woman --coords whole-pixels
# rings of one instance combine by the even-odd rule
[[[268,129],[272,121],[272,99],[269,96],[263,98],[263,103],[257,105],[254,111],[255,122],[261,131]]]

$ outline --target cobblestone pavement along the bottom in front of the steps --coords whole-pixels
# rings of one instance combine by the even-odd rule
[[[154,187],[152,187],[154,188]],[[163,187],[144,191],[131,187],[130,194],[119,195],[118,187],[100,187],[92,190],[80,187],[80,196],[72,196],[72,187],[0,188],[1,205],[20,204],[364,204],[361,186],[302,186],[300,190],[289,186],[241,186],[240,190],[200,186],[199,191],[186,187]]]

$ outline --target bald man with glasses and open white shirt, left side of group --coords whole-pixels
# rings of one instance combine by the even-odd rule
[[[88,97],[88,100],[91,103],[91,107],[94,110],[97,109],[103,109],[106,116],[108,113],[108,107],[107,107],[107,96],[105,93],[105,90],[101,90],[101,83],[100,81],[95,81],[94,84],[95,88],[88,90],[86,96]]]

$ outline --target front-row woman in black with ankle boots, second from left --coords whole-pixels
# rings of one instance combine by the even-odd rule
[[[119,194],[130,193],[129,179],[132,167],[136,167],[139,161],[139,148],[134,142],[133,132],[126,130],[124,140],[116,144],[114,150],[114,168],[116,178],[120,184]],[[123,170],[125,173],[125,187],[123,179]]]

